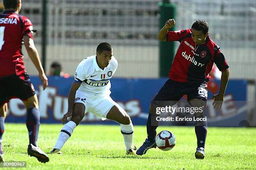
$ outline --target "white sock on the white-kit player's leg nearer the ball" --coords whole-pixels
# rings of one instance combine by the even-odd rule
[[[120,124],[121,133],[125,142],[126,150],[132,149],[133,147],[133,123],[129,125]]]

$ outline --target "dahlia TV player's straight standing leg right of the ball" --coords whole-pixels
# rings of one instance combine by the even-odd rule
[[[204,117],[204,107],[206,105],[206,101],[194,98],[189,100],[189,104],[192,107],[203,107],[202,112],[195,112],[195,117]],[[195,133],[197,136],[197,150],[195,152],[195,157],[197,159],[205,158],[205,140],[207,135],[207,122],[206,121],[197,121],[195,125]]]

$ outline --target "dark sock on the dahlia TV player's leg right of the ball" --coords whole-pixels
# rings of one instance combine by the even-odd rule
[[[195,133],[197,135],[197,147],[205,148],[205,140],[207,135],[207,122],[204,122],[204,126],[195,126]]]

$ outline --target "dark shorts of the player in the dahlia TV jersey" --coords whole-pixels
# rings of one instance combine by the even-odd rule
[[[207,82],[177,82],[167,80],[164,86],[154,97],[153,101],[171,101],[175,105],[183,95],[187,95],[187,101],[191,99],[207,100]]]

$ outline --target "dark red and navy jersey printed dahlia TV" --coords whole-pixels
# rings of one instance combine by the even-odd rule
[[[195,45],[191,36],[191,29],[168,31],[167,41],[179,41],[180,45],[174,57],[169,78],[179,82],[208,81],[213,63],[220,71],[228,68],[220,47],[207,37],[206,42]]]

